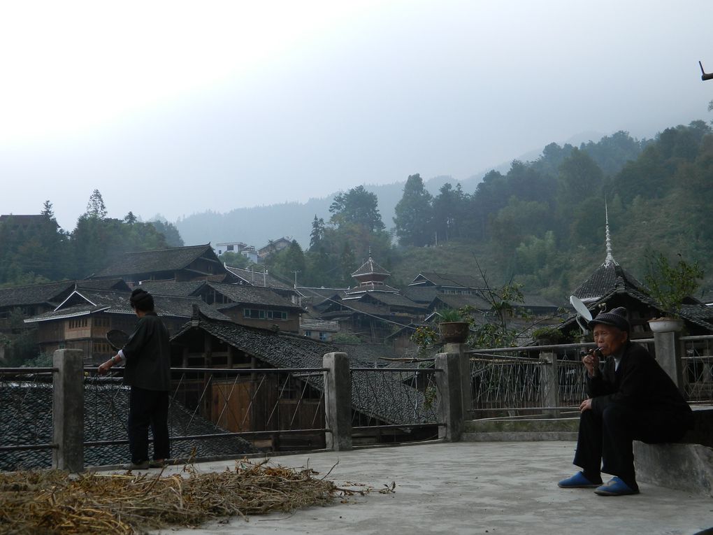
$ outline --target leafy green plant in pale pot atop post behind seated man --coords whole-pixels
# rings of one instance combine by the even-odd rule
[[[650,271],[645,277],[651,297],[659,304],[664,316],[649,320],[653,332],[679,331],[683,328],[683,300],[696,290],[703,270],[698,263],[687,263],[681,255],[674,265],[657,253],[649,258]]]

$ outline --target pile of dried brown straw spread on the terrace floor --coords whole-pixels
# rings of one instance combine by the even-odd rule
[[[294,511],[354,494],[312,469],[236,463],[199,474],[0,473],[2,534],[138,534],[169,525],[197,526],[227,516]],[[325,476],[326,477],[326,476]],[[359,491],[365,494],[365,491]]]

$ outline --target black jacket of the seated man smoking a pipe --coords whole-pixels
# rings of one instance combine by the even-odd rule
[[[645,347],[627,342],[619,369],[615,366],[610,356],[600,365],[597,377],[587,377],[595,412],[601,413],[609,404],[625,404],[633,409],[677,414],[692,424],[691,407]]]

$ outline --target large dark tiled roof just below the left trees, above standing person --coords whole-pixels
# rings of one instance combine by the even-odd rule
[[[210,243],[206,245],[189,245],[170,249],[150,251],[135,251],[124,255],[108,267],[97,272],[92,278],[112,277],[127,274],[140,274],[183,270],[205,253],[215,257]],[[220,264],[222,267],[222,264]]]

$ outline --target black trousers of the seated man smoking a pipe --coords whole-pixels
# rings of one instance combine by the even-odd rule
[[[686,429],[687,419],[674,413],[632,409],[613,403],[601,411],[586,410],[580,415],[574,464],[582,468],[585,475],[594,477],[601,470],[637,488],[632,441],[675,442]]]

